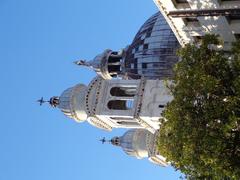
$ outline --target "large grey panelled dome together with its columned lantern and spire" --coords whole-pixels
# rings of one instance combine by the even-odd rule
[[[75,63],[94,69],[103,79],[166,79],[173,76],[179,47],[170,26],[158,12],[143,24],[131,45],[120,51],[107,49],[92,61]]]

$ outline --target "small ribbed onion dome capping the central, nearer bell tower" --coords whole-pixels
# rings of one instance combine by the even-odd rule
[[[85,95],[87,86],[78,84],[65,90],[59,97],[58,107],[68,117],[82,122],[87,119],[85,111]]]

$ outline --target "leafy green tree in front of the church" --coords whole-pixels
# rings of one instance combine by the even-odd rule
[[[206,35],[178,52],[160,153],[189,179],[240,179],[240,41],[230,53]]]

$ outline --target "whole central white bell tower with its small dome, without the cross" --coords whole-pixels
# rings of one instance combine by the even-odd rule
[[[154,133],[165,105],[172,100],[163,80],[105,80],[96,77],[59,97],[58,107],[68,117],[104,129],[144,128]]]

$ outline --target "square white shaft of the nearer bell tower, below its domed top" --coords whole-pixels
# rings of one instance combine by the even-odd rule
[[[102,80],[95,117],[113,127],[144,128],[154,133],[171,100],[162,80]]]

